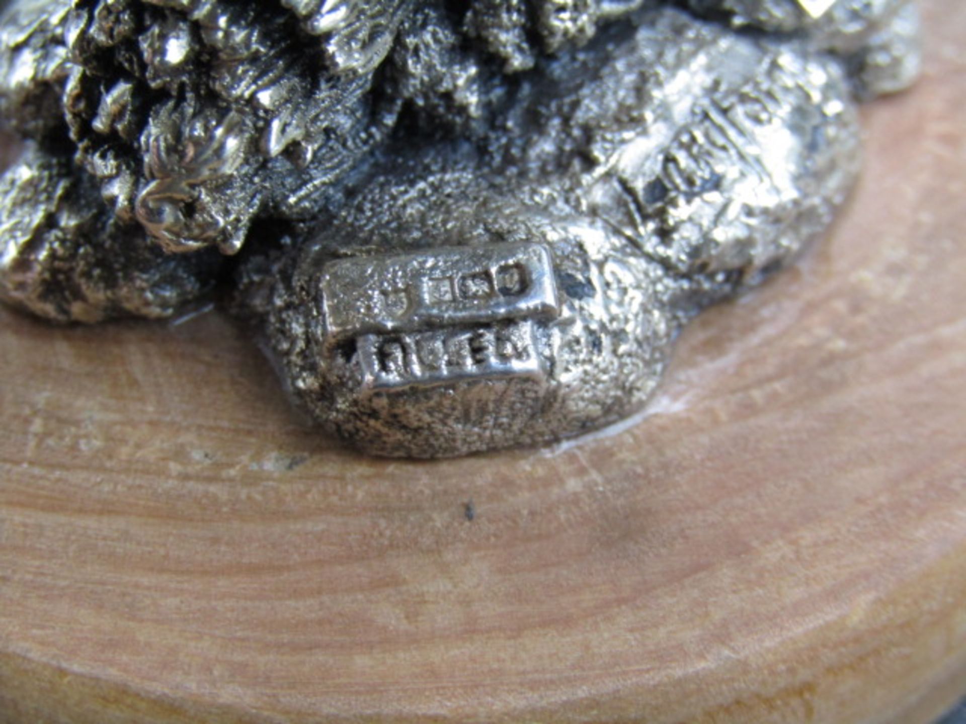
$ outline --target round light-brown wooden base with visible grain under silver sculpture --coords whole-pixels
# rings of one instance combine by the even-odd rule
[[[966,3],[924,5],[925,77],[867,108],[832,237],[697,320],[623,430],[369,459],[217,313],[0,313],[0,722],[941,713],[966,691]]]

